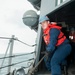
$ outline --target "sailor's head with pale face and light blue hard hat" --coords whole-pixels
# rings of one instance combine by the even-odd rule
[[[50,21],[49,18],[47,16],[40,16],[39,18],[39,24],[41,24],[41,27],[43,29],[46,29],[49,25]]]

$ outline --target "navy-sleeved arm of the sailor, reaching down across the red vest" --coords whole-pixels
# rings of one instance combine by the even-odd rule
[[[56,28],[50,30],[50,43],[46,46],[47,51],[54,51],[60,31]]]

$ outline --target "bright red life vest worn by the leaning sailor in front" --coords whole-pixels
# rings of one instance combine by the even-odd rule
[[[46,45],[48,45],[50,43],[50,30],[52,28],[56,28],[58,30],[60,30],[60,34],[58,35],[58,39],[57,39],[57,43],[56,43],[56,46],[62,44],[64,42],[64,40],[66,39],[66,36],[64,36],[64,33],[61,32],[61,28],[60,26],[57,26],[56,24],[49,24],[48,27],[43,30],[43,37],[44,37],[44,41],[46,43]]]

